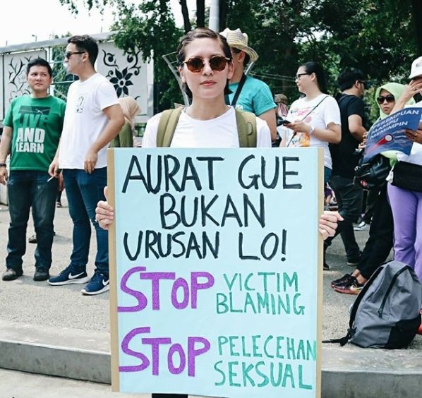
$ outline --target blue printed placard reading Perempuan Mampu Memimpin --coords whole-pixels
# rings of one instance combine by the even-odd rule
[[[368,132],[363,162],[378,153],[397,150],[409,155],[413,143],[404,131],[416,130],[422,116],[422,108],[404,108],[373,124]]]

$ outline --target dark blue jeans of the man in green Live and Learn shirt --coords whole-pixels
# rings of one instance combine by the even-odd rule
[[[47,171],[37,170],[12,170],[8,176],[8,209],[11,222],[8,228],[7,268],[22,270],[31,206],[37,234],[35,267],[48,271],[52,265],[57,179],[47,182],[48,179]]]

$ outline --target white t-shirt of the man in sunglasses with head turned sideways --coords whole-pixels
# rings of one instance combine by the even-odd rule
[[[83,169],[89,148],[109,121],[103,109],[115,104],[119,104],[116,91],[100,73],[71,84],[61,133],[60,169]],[[96,169],[107,166],[107,147],[98,152]]]

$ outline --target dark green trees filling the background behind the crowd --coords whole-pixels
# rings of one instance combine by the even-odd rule
[[[59,0],[77,11],[77,0]],[[88,8],[116,6],[116,45],[154,59],[158,109],[181,102],[176,80],[161,56],[176,49],[184,32],[207,22],[205,1],[196,0],[191,19],[179,0],[183,30],[174,23],[169,0],[85,0]],[[251,73],[273,92],[297,96],[294,75],[304,61],[320,61],[330,91],[345,66],[361,68],[374,84],[405,81],[412,59],[422,54],[421,0],[219,0],[220,30],[241,28],[259,54]],[[418,40],[419,38],[419,40]]]

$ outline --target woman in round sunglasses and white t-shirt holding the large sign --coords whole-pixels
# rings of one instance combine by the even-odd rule
[[[230,47],[222,35],[207,28],[197,28],[182,37],[177,50],[183,90],[191,97],[191,105],[183,109],[174,131],[171,147],[239,147],[236,114],[224,102],[229,78],[233,73]],[[145,128],[143,147],[157,147],[160,114],[153,116]],[[270,128],[256,118],[257,146],[271,147]],[[107,195],[107,191],[106,191]],[[104,229],[113,222],[113,208],[99,202],[97,221]],[[320,217],[319,231],[324,238],[334,235],[337,212]],[[153,398],[187,398],[187,394],[152,394]]]

